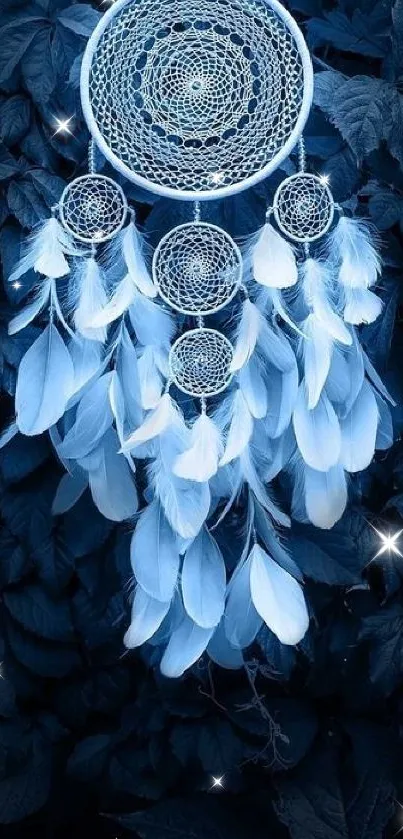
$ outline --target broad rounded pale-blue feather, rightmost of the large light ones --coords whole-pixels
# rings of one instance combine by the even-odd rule
[[[340,421],[340,462],[348,472],[361,472],[371,463],[375,452],[378,416],[374,393],[364,380],[350,412]]]

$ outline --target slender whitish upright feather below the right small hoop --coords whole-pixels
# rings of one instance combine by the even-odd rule
[[[309,315],[304,323],[307,337],[302,341],[304,375],[308,391],[308,408],[314,408],[325,385],[332,356],[332,339],[316,315]]]

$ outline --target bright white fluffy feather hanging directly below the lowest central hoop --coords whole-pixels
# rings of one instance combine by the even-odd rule
[[[221,434],[215,422],[203,412],[193,423],[190,448],[179,455],[173,472],[178,478],[209,481],[218,469],[223,453]]]

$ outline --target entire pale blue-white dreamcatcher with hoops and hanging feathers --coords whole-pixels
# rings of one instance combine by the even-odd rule
[[[88,43],[81,94],[90,172],[11,277],[43,276],[11,332],[49,307],[21,362],[18,428],[49,429],[66,466],[55,512],[89,486],[107,517],[129,518],[136,468],[145,476],[126,645],[161,647],[168,676],[206,648],[241,666],[263,622],[284,644],[308,626],[270,482],[290,473],[293,516],[328,528],[346,472],[388,444],[390,397],[355,332],[380,312],[379,257],[366,224],[306,172],[312,68],[275,0],[120,0]],[[95,172],[94,143],[129,180],[192,202],[152,259],[121,187]],[[298,171],[241,252],[203,202],[257,183],[297,143]],[[219,537],[241,493],[229,569]]]

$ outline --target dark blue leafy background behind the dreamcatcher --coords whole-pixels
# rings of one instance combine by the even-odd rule
[[[4,424],[16,369],[38,326],[7,335],[28,293],[7,284],[23,232],[85,171],[79,67],[101,7],[71,0],[0,4],[0,220]],[[292,0],[314,56],[307,131],[313,171],[337,201],[382,232],[384,314],[362,338],[402,404],[403,2]],[[55,118],[73,116],[72,135]],[[290,171],[291,162],[285,164]],[[262,221],[278,179],[209,211],[235,235]],[[186,207],[125,184],[151,238]],[[6,837],[379,839],[401,825],[403,560],[382,555],[371,524],[403,514],[403,428],[330,533],[295,526],[312,620],[298,650],[268,631],[245,670],[204,660],[162,679],[152,648],[127,656],[130,528],[84,495],[52,519],[60,467],[46,436],[0,452],[0,824]],[[234,524],[234,522],[233,522]],[[229,544],[234,554],[237,545]],[[225,775],[225,790],[211,776]],[[398,808],[399,812],[399,808]],[[403,812],[403,811],[402,811]],[[73,832],[74,831],[74,832]]]

